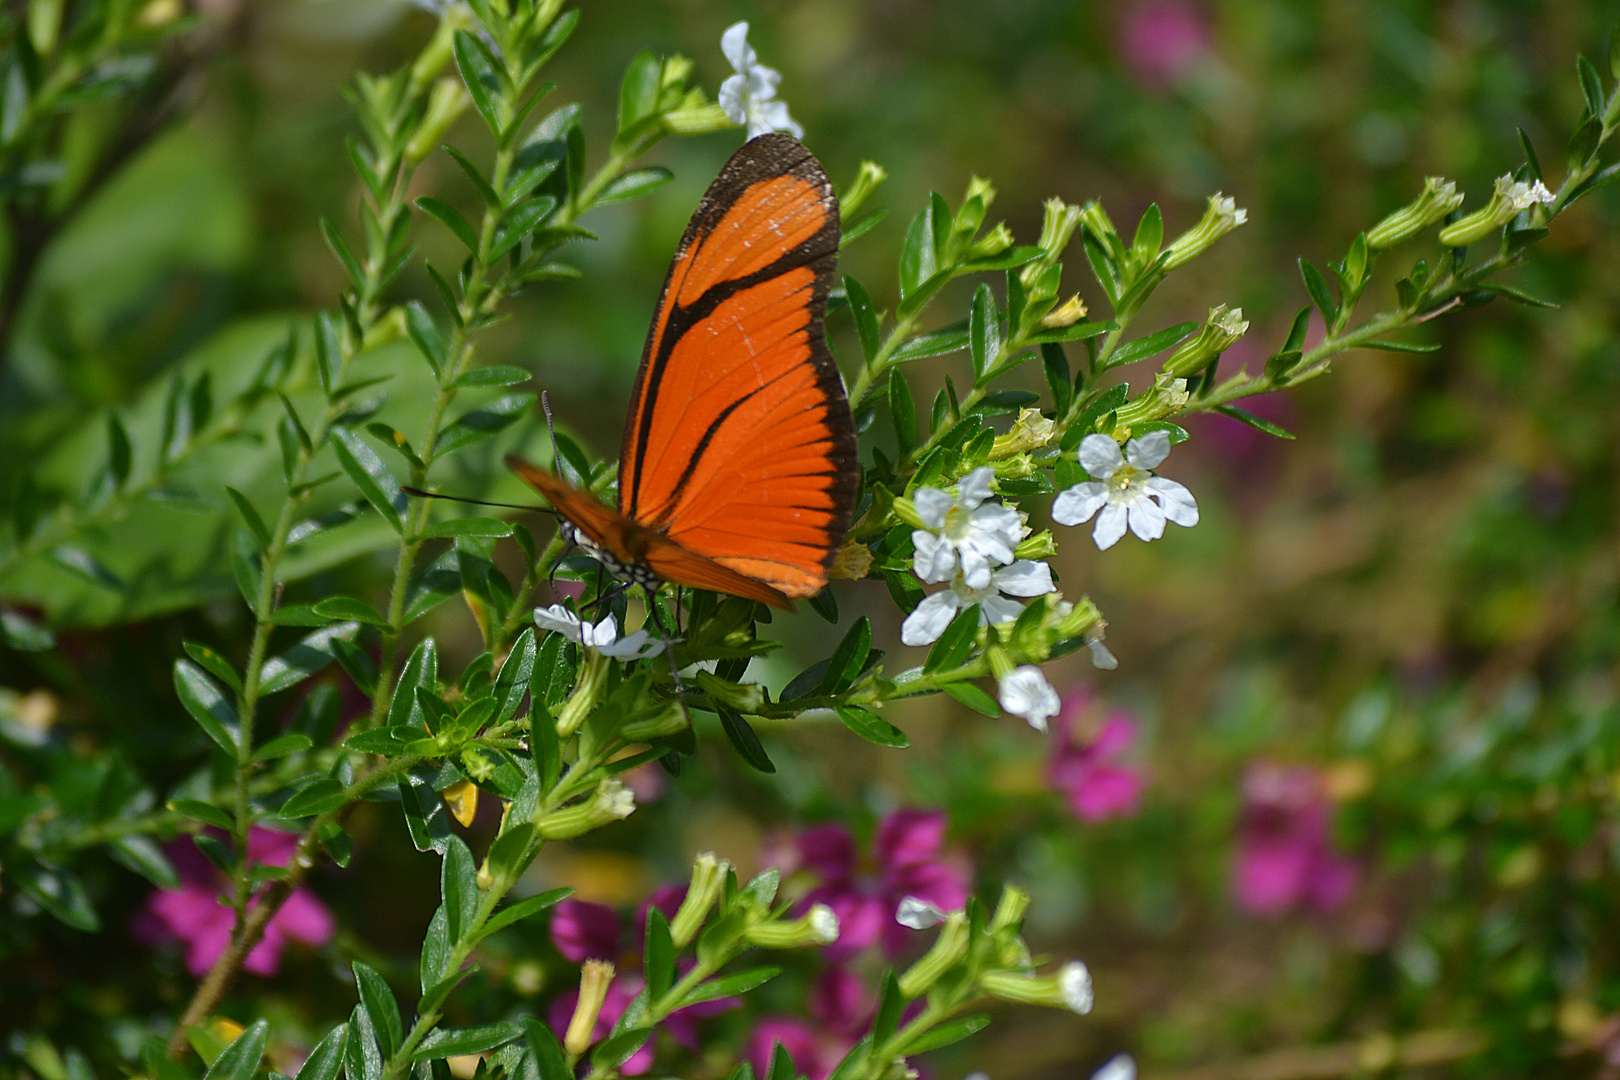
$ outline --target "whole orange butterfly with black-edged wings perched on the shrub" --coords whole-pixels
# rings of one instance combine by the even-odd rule
[[[619,505],[515,457],[614,576],[774,607],[813,596],[844,542],[860,471],[823,319],[838,196],[787,134],[744,144],[676,248],[635,376]]]

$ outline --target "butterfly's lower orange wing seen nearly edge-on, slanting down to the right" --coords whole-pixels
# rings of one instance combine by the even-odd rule
[[[515,453],[507,455],[507,468],[544,495],[546,502],[585,533],[593,544],[619,562],[646,563],[663,581],[731,593],[773,607],[792,607],[786,596],[763,581],[755,581],[711,559],[685,551],[661,533],[603,505],[588,491],[580,491],[573,484],[557,479]]]

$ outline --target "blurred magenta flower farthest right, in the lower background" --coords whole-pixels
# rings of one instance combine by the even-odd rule
[[[1256,761],[1243,777],[1233,894],[1256,915],[1302,904],[1330,912],[1356,887],[1356,865],[1333,852],[1322,777],[1307,766]]]

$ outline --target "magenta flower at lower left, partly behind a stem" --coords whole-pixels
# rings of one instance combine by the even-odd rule
[[[248,860],[267,866],[285,866],[298,848],[298,837],[254,827],[248,834]],[[146,899],[146,910],[134,920],[134,936],[147,944],[178,941],[186,946],[186,968],[202,976],[225,946],[237,916],[228,904],[228,881],[191,844],[175,844],[168,850],[180,873],[180,889],[157,889]],[[256,907],[258,900],[248,904]],[[293,889],[282,904],[264,938],[241,967],[254,975],[275,975],[288,941],[324,946],[332,939],[332,912],[308,887]]]

